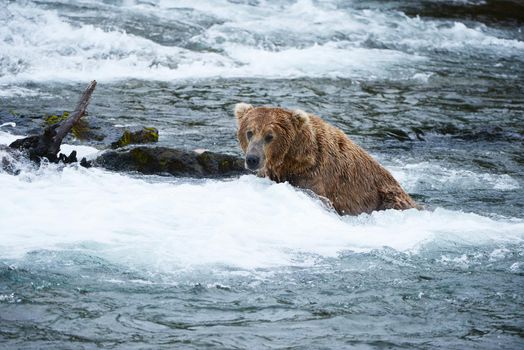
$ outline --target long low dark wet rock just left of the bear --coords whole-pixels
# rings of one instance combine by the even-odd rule
[[[247,174],[244,159],[238,156],[205,151],[139,146],[107,151],[94,165],[115,171],[138,171],[143,174],[171,174],[184,177],[227,177]]]

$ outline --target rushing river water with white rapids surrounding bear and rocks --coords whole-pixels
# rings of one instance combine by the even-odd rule
[[[298,107],[426,210],[340,217],[252,175],[0,172],[0,347],[523,348],[521,10],[1,1],[1,145],[93,79],[96,132],[152,126],[169,147],[240,154],[235,103]],[[107,141],[67,143],[89,158]]]

